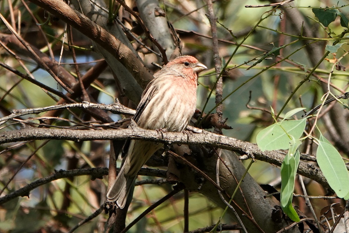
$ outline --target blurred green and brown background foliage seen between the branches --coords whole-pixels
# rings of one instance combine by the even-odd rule
[[[268,1],[255,0],[225,0],[214,2],[215,13],[219,22],[218,38],[223,40],[223,42],[220,42],[219,48],[223,64],[229,59],[236,48],[236,45],[233,43],[242,41],[260,18],[265,16],[268,10],[272,9],[271,7],[246,8],[245,5],[258,5],[267,2]],[[47,37],[53,51],[54,59],[60,61],[61,66],[76,77],[76,70],[72,65],[72,51],[67,46],[66,27],[62,20],[25,0],[0,1],[0,13],[14,28],[16,28],[25,41],[48,54],[44,36],[39,32],[37,24],[33,20],[31,14],[29,14],[28,9],[24,7],[24,3],[28,5],[30,12],[35,16],[44,31],[44,35]],[[135,7],[133,1],[126,1],[126,3],[131,8]],[[107,1],[106,4],[108,4]],[[332,7],[333,5],[342,6],[346,4],[348,4],[347,1],[337,0],[294,1],[294,5],[297,6],[297,9],[305,16],[305,20],[312,26],[312,30],[321,35],[322,38],[327,38],[328,34],[338,35],[344,28],[341,26],[339,19],[337,19],[325,29],[317,22],[317,18],[312,13],[312,8]],[[212,43],[211,39],[206,38],[210,37],[209,22],[205,15],[207,10],[206,7],[198,9],[203,5],[205,5],[205,2],[199,0],[165,0],[160,2],[160,6],[166,11],[169,22],[178,30],[179,37],[183,43],[183,54],[194,55],[208,67],[213,67]],[[116,2],[115,7],[117,8],[118,6]],[[198,10],[194,11],[195,9]],[[122,7],[119,11],[122,11]],[[187,15],[192,11],[194,12]],[[340,11],[348,15],[349,7],[342,7]],[[132,17],[130,17],[130,19],[134,20]],[[290,21],[290,19],[285,19],[280,10],[276,10],[275,13],[263,20],[260,25],[298,36],[298,33],[292,28]],[[126,25],[132,29],[131,24]],[[330,30],[330,33],[328,30]],[[197,34],[194,34],[192,31],[197,32]],[[0,22],[0,32],[0,41],[14,51],[37,81],[64,92],[46,71],[38,67],[37,63],[32,60],[30,56],[20,49],[15,48],[15,45],[6,40],[6,36],[11,36],[11,32],[3,22]],[[103,57],[93,51],[91,41],[86,36],[74,29],[72,32],[74,38],[73,44],[76,46],[76,59],[77,63],[79,63],[79,72],[83,75],[91,67],[96,65],[98,59],[103,59]],[[149,44],[144,34],[140,34],[139,38],[144,39],[144,41]],[[253,46],[258,48],[259,51],[246,46],[241,46],[238,49],[228,65],[228,71],[224,73],[223,77],[223,96],[227,96],[234,92],[223,102],[223,118],[227,117],[227,125],[233,128],[231,130],[223,130],[225,136],[255,142],[257,133],[273,123],[270,114],[260,109],[249,109],[246,107],[246,104],[248,103],[252,107],[267,110],[270,109],[269,106],[272,106],[275,111],[279,111],[298,83],[305,78],[305,71],[299,67],[306,69],[312,68],[306,51],[304,49],[299,50],[290,57],[299,67],[282,62],[262,72],[246,84],[242,85],[242,83],[277,60],[275,56],[270,56],[250,70],[246,70],[260,58],[259,56],[261,56],[264,51],[268,52],[273,46],[278,47],[285,45],[295,39],[294,37],[257,27],[257,29],[247,37],[244,45]],[[331,45],[331,41],[325,41],[325,43]],[[324,47],[325,43],[320,42],[318,46]],[[302,41],[289,45],[280,51],[280,55],[286,57],[301,46],[303,46]],[[151,72],[155,72],[158,68],[151,63],[157,62],[156,56],[151,53],[145,53],[137,43],[134,43],[134,47],[138,50]],[[337,58],[342,56],[347,50],[348,45],[344,44],[342,49],[338,51]],[[253,58],[256,58],[256,60],[253,61]],[[318,59],[320,58],[321,57]],[[22,73],[28,73],[21,67],[18,60],[4,49],[3,46],[0,46],[0,60],[2,63]],[[249,60],[252,61],[245,64],[246,61]],[[341,63],[346,66],[346,64],[348,64],[348,57],[344,57]],[[238,67],[234,68],[235,66]],[[331,66],[331,63],[325,62],[324,68],[317,70],[317,75],[327,79]],[[197,105],[199,109],[203,109],[208,93],[215,82],[214,75],[209,76],[209,74],[212,73],[214,73],[214,69],[203,72],[202,77],[199,78],[200,84]],[[332,83],[346,90],[348,83],[347,78],[348,74],[346,72],[334,71],[332,74]],[[314,77],[312,77],[309,82],[304,83],[288,103],[285,112],[296,107],[301,107],[302,105],[309,110],[314,105],[321,103],[320,98],[322,96],[322,90],[319,83],[320,82]],[[240,85],[242,86],[240,87]],[[250,91],[251,100],[249,101]],[[120,97],[120,99],[123,97],[122,93],[119,92],[118,86],[113,78],[113,73],[109,68],[99,75],[98,79],[88,88],[88,92],[98,103],[109,104],[114,101],[114,97]],[[54,94],[47,95],[42,88],[27,80],[23,80],[21,77],[9,72],[5,68],[0,69],[0,98],[1,116],[8,115],[10,111],[14,109],[54,105],[59,99],[59,97]],[[79,101],[79,98],[76,100]],[[131,102],[123,102],[123,104],[131,108],[136,106],[136,103]],[[208,100],[205,112],[208,112],[214,107],[215,98],[213,94]],[[108,112],[108,114],[113,121],[117,121],[123,117],[113,115],[110,112]],[[42,115],[44,115],[44,113],[32,114],[25,116],[25,119]],[[300,117],[300,115],[301,114],[299,114],[298,117]],[[86,117],[84,112],[80,109],[64,110],[59,117],[74,122],[89,122],[94,120],[90,117]],[[29,122],[34,124],[39,123],[39,120],[33,119]],[[1,131],[21,129],[21,127],[25,125],[25,123],[21,123],[20,120],[10,123],[6,123],[6,127],[2,125]],[[55,119],[51,124],[57,127],[69,128],[74,128],[76,126],[75,123],[62,121],[61,119]],[[321,131],[326,134],[326,129],[322,123],[320,122],[318,125]],[[12,143],[1,145],[1,150],[1,197],[31,182],[47,177],[54,173],[55,170],[107,167],[109,160],[108,141],[71,142],[36,140],[24,144]],[[311,154],[312,151],[309,153]],[[280,188],[279,168],[258,161],[252,165],[252,169],[250,169],[249,172],[259,183],[270,184]],[[138,177],[139,181],[147,179],[151,180],[154,179],[154,177]],[[310,181],[311,180],[306,181],[309,195],[326,194],[326,190],[320,185]],[[42,233],[67,232],[104,203],[106,184],[106,177],[103,177],[103,179],[90,180],[90,176],[77,176],[74,179],[59,179],[42,185],[30,192],[30,198],[19,197],[1,205],[0,231]],[[133,203],[131,204],[126,219],[127,223],[133,221],[140,213],[147,209],[151,203],[156,202],[158,199],[168,194],[170,190],[170,184],[144,184],[136,186]],[[297,193],[299,190],[300,187],[296,185],[295,192]],[[299,193],[301,192],[299,191]],[[189,195],[189,230],[215,224],[221,216],[222,210],[211,203],[205,196],[198,193],[190,193]],[[183,200],[182,193],[173,196],[155,210],[151,211],[150,214],[131,228],[129,232],[183,232]],[[295,198],[295,202],[300,210],[305,213],[309,212],[304,204],[304,200]],[[320,215],[320,210],[331,202],[324,199],[314,199],[312,203],[315,212]],[[102,213],[97,218],[79,227],[75,232],[102,232],[107,218],[108,215]],[[232,220],[228,216],[225,216],[222,220],[223,223],[233,224],[231,221]]]

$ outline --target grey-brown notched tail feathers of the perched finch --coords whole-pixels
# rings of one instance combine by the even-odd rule
[[[117,206],[120,209],[123,209],[125,207],[128,193],[130,192],[132,184],[136,178],[135,176],[125,176],[125,164],[126,161],[124,165],[121,167],[121,170],[116,180],[111,185],[107,193],[108,201],[116,202]]]

